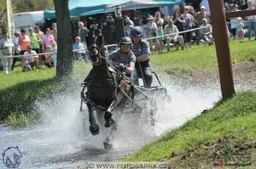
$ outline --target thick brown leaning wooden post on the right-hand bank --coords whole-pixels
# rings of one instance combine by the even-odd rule
[[[211,21],[214,30],[214,42],[219,65],[219,79],[222,89],[222,98],[235,95],[232,64],[230,61],[230,45],[227,37],[227,25],[223,0],[208,0],[211,10]]]

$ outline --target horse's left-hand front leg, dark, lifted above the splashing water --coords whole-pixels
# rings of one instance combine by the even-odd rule
[[[89,111],[89,130],[92,135],[99,134],[99,125],[97,124],[94,117],[94,103],[92,101],[87,102],[87,107]]]

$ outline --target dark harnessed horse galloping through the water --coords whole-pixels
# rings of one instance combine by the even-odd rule
[[[111,127],[110,133],[104,141],[105,149],[110,149],[112,147],[111,141],[116,132],[116,122],[112,117],[113,110],[118,103],[124,101],[123,96],[127,95],[120,84],[124,81],[127,81],[127,84],[130,82],[105,58],[103,36],[99,29],[91,27],[87,44],[93,68],[83,82],[82,101],[86,103],[89,110],[89,130],[92,135],[99,134],[99,125],[102,129]],[[85,91],[86,87],[87,91]],[[129,98],[128,101],[132,101],[130,95],[127,97]],[[96,111],[97,120],[94,111]]]

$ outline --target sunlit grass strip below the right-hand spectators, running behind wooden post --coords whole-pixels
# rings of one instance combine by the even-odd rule
[[[230,41],[231,60],[233,63],[256,60],[256,41],[244,43]],[[151,63],[165,71],[201,71],[217,69],[217,55],[215,46],[192,46],[188,50],[165,52],[152,55]]]

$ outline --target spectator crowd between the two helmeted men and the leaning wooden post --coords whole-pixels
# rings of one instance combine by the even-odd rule
[[[129,17],[124,19],[124,34],[130,36],[130,30],[134,25],[140,26],[143,29],[143,38],[148,39],[151,52],[162,53],[163,48],[167,46],[167,51],[170,47],[181,47],[181,50],[187,49],[192,43],[203,42],[213,44],[212,29],[210,25],[210,15],[206,12],[206,7],[201,6],[199,12],[195,12],[191,5],[181,5],[175,9],[172,15],[162,16],[158,11],[153,15],[143,18],[135,17],[135,24]],[[202,27],[200,31],[190,31],[192,28]],[[181,33],[184,31],[184,33]],[[162,36],[170,34],[170,36]],[[155,36],[161,36],[154,38]]]

